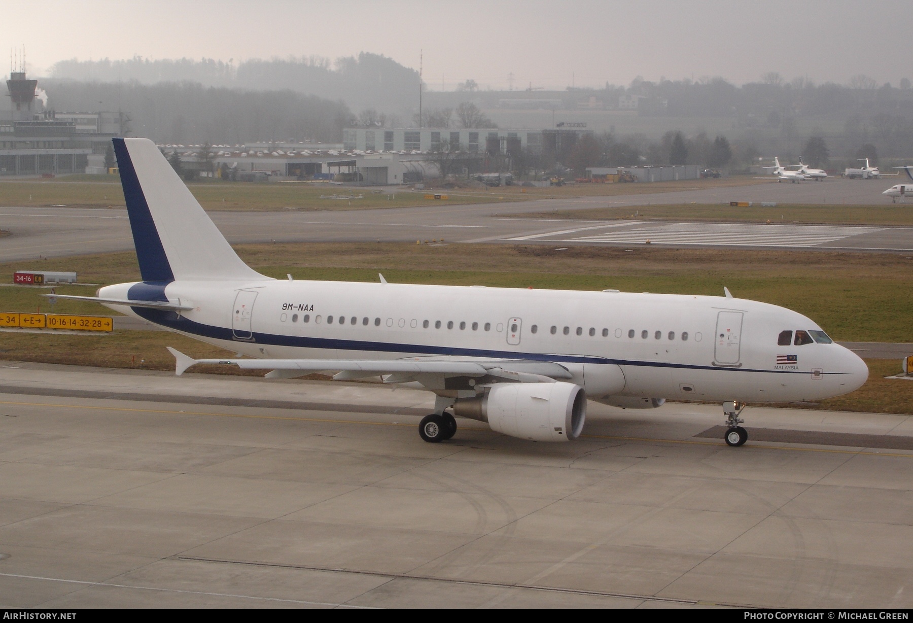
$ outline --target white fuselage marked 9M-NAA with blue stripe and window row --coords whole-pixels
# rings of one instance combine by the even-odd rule
[[[596,400],[813,400],[867,376],[838,344],[798,345],[793,333],[821,332],[803,315],[725,297],[307,280],[118,284],[99,295],[180,301],[194,309],[109,306],[252,357],[547,361]]]

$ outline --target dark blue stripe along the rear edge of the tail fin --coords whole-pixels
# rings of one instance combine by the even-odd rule
[[[123,139],[112,139],[114,153],[117,156],[118,169],[121,171],[123,197],[127,202],[127,215],[130,216],[130,228],[133,232],[133,246],[136,247],[136,259],[140,262],[140,274],[143,281],[173,281],[174,274],[168,256],[155,228],[146,195],[142,193],[140,179],[133,169],[133,162]]]

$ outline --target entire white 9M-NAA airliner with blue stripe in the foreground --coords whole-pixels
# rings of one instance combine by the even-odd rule
[[[456,416],[538,441],[578,438],[587,400],[627,408],[666,398],[723,405],[724,436],[745,443],[746,402],[819,400],[866,382],[866,364],[802,314],[725,297],[274,280],[237,257],[155,145],[114,139],[142,281],[97,301],[238,358],[169,349],[194,364],[268,378],[380,375],[433,392],[425,441]]]

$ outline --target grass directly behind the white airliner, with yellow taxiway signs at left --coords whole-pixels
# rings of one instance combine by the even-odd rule
[[[558,251],[542,246],[376,243],[243,245],[237,251],[251,266],[280,279],[290,273],[296,279],[376,281],[377,273],[383,272],[387,280],[401,283],[714,295],[725,285],[738,297],[799,311],[838,341],[913,342],[913,259],[889,254],[592,247]],[[299,260],[289,263],[288,258]],[[139,280],[132,253],[49,259],[42,267],[76,269],[80,281],[98,284]],[[0,267],[4,281],[12,279],[13,269]],[[94,290],[95,286],[57,288],[58,293],[83,295]],[[0,287],[0,311],[49,311],[47,299],[38,296],[46,292]],[[54,311],[110,315],[100,306],[78,301],[58,301]],[[131,367],[144,359],[146,367],[172,369],[166,345],[197,357],[225,354],[160,332],[0,336],[0,358],[6,360]],[[820,408],[913,413],[913,383],[882,378],[899,372],[899,362],[869,364],[872,374],[864,387],[825,400]]]

